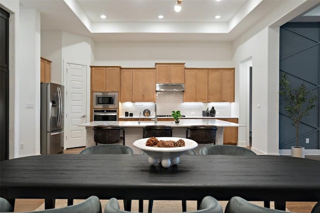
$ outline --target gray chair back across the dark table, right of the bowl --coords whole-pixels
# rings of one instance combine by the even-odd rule
[[[208,145],[202,147],[199,155],[256,155],[249,149],[234,145]]]

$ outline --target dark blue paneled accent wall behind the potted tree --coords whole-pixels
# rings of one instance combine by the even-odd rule
[[[307,90],[319,95],[320,22],[288,22],[280,27],[280,75],[286,73],[292,87],[302,82]],[[320,149],[320,100],[299,125],[299,146]],[[309,138],[309,143],[305,139]],[[295,129],[285,115],[283,97],[279,96],[279,149],[295,146]]]

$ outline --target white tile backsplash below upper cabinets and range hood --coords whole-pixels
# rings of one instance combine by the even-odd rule
[[[231,105],[229,102],[185,102],[183,103],[183,92],[157,92],[156,105],[158,115],[170,115],[172,110],[180,110],[181,115],[185,116],[202,116],[202,110],[211,109],[214,106],[216,116],[231,116]],[[144,109],[154,115],[154,103],[148,102],[123,102],[119,105],[119,116],[124,116],[124,112],[133,113],[133,116],[139,116]]]

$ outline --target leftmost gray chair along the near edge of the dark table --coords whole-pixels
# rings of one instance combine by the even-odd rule
[[[4,206],[3,206],[4,205]],[[9,206],[8,206],[9,205]],[[0,199],[0,212],[13,212],[13,209],[8,201]],[[36,211],[37,213],[101,213],[100,200],[96,196],[91,196],[85,201],[68,207]],[[20,213],[34,213],[34,212],[20,212]]]

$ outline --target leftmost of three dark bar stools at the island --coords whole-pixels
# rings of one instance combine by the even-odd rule
[[[94,142],[97,144],[116,144],[123,140],[125,145],[124,129],[114,125],[97,125],[93,126]],[[120,131],[122,130],[122,136]]]

